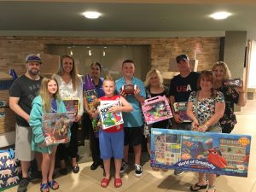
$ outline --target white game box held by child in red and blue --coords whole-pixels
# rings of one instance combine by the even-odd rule
[[[108,101],[109,102],[109,101]],[[123,116],[121,112],[110,113],[109,108],[113,106],[120,106],[120,101],[110,101],[108,104],[103,104],[98,107],[100,118],[102,120],[102,130],[106,130],[116,125],[121,125],[124,123]]]

